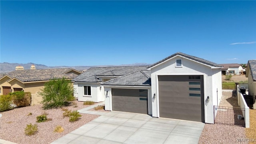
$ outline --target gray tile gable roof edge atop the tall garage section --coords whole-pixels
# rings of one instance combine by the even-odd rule
[[[220,64],[216,64],[216,63],[214,63],[214,62],[210,62],[210,61],[204,60],[204,59],[202,59],[202,58],[198,58],[198,57],[195,57],[195,56],[190,56],[190,55],[184,54],[184,53],[182,53],[182,52],[177,52],[177,53],[175,53],[175,54],[172,54],[171,56],[168,56],[167,58],[164,58],[163,60],[160,60],[159,62],[156,62],[156,63],[154,63],[154,64],[148,66],[148,68],[151,68],[151,67],[153,67],[153,66],[156,66],[157,64],[160,64],[160,63],[162,63],[162,62],[164,62],[164,61],[166,61],[166,60],[168,60],[168,59],[170,59],[170,58],[172,58],[172,57],[174,57],[174,56],[177,56],[177,55],[184,56],[184,57],[186,57],[186,58],[195,60],[195,61],[197,61],[197,62],[201,62],[201,63],[203,63],[203,64],[207,64],[207,65],[210,65],[210,66],[219,67],[219,68],[223,67],[223,66],[220,65]]]

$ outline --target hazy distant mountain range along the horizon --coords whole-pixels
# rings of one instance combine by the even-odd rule
[[[23,66],[24,70],[30,70],[31,65],[34,63],[27,63],[27,64],[19,64],[19,63],[8,63],[3,62],[0,63],[0,74],[6,74],[8,72],[14,71],[16,66]],[[146,63],[135,63],[135,64],[122,64],[122,65],[101,65],[101,66],[46,66],[43,64],[34,64],[36,69],[50,69],[50,68],[74,68],[75,70],[87,70],[92,67],[108,67],[108,66],[146,66],[150,64]]]

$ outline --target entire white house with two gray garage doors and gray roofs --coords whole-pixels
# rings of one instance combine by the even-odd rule
[[[78,100],[105,100],[105,110],[213,124],[213,106],[222,96],[222,67],[177,52],[147,70],[140,67],[125,74],[126,67],[90,68],[72,81],[78,86]]]

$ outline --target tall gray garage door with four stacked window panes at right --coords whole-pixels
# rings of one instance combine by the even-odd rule
[[[160,117],[204,122],[203,76],[158,76]]]

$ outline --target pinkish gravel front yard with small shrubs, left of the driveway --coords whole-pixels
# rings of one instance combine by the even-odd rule
[[[79,110],[88,106],[90,105],[83,105],[83,102],[76,100],[74,104],[64,108]],[[0,139],[18,144],[49,144],[98,117],[98,115],[81,114],[80,120],[69,122],[68,117],[63,118],[63,112],[61,108],[44,110],[41,104],[1,112]],[[29,113],[32,115],[28,115]],[[37,123],[36,116],[43,113],[47,114],[49,121]],[[35,135],[26,136],[24,129],[30,123],[38,125],[38,132]],[[53,132],[58,125],[64,128],[63,132]]]

